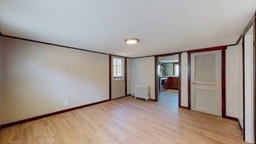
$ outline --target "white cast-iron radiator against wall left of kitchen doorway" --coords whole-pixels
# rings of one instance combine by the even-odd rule
[[[134,97],[140,97],[145,100],[149,100],[149,86],[146,85],[138,85],[134,86]]]

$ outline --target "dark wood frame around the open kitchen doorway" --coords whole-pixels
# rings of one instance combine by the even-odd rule
[[[178,107],[181,107],[181,52],[169,53],[164,55],[155,55],[155,101],[159,100],[159,76],[158,76],[158,58],[164,56],[178,55]]]

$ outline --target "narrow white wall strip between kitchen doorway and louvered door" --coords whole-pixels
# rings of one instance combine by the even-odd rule
[[[181,54],[181,106],[188,107],[188,54]]]

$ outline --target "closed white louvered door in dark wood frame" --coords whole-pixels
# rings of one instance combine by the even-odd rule
[[[221,116],[221,51],[191,54],[191,109]]]

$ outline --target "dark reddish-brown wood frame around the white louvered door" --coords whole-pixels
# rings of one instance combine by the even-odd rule
[[[195,52],[209,52],[221,50],[221,116],[232,119],[233,117],[226,116],[226,46],[210,47],[207,49],[195,49],[188,51],[188,109],[191,109],[191,54]]]

